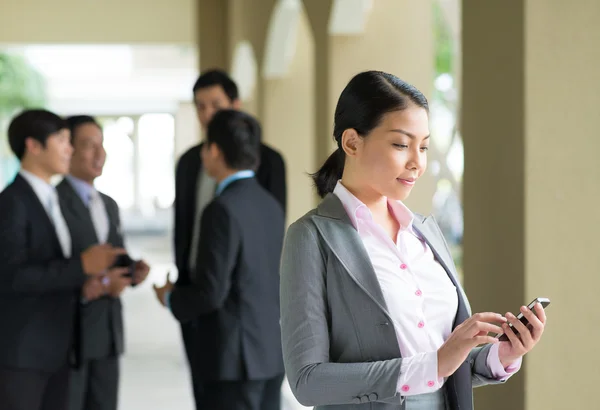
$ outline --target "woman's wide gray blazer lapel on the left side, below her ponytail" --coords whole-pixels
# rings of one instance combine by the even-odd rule
[[[337,196],[329,194],[319,205],[315,225],[327,246],[356,284],[391,320],[371,259]]]

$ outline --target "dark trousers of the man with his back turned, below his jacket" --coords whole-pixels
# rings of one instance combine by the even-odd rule
[[[196,410],[280,410],[283,377],[204,382]]]

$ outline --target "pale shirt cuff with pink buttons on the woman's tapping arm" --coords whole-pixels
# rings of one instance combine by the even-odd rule
[[[438,378],[437,352],[403,357],[397,391],[402,396],[432,393],[444,384]]]

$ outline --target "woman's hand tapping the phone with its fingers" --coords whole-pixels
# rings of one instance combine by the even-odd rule
[[[475,346],[498,343],[498,339],[488,336],[489,332],[502,333],[502,328],[493,323],[506,324],[506,318],[498,313],[476,313],[458,325],[438,350],[438,377],[452,375]]]

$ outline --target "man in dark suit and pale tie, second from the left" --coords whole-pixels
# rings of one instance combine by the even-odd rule
[[[106,160],[104,137],[93,117],[67,119],[73,156],[69,175],[57,186],[64,215],[71,228],[73,252],[98,243],[123,248],[119,207],[94,188]],[[119,356],[124,351],[123,317],[119,295],[148,275],[144,261],[90,278],[81,290],[81,366],[71,372],[69,410],[116,410],[119,388]],[[133,277],[128,276],[129,273]]]

